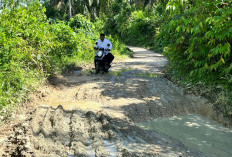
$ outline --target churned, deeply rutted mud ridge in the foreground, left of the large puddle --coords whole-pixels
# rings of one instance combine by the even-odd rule
[[[33,115],[31,115],[33,117]],[[29,118],[31,119],[31,118]],[[160,156],[162,152],[142,151],[139,149],[130,150],[133,147],[146,147],[146,141],[140,136],[153,138],[154,141],[167,142],[166,140],[157,140],[157,135],[150,136],[144,134],[135,126],[129,126],[126,123],[123,127],[131,127],[130,130],[120,131],[114,124],[114,120],[102,113],[93,113],[91,111],[82,113],[80,111],[65,111],[62,106],[58,108],[38,108],[35,116],[23,124],[14,126],[13,133],[8,138],[8,149],[2,156]],[[117,123],[117,122],[116,122]],[[29,125],[30,124],[30,125]],[[134,128],[133,128],[134,127]],[[137,130],[136,130],[137,129]],[[123,130],[123,129],[122,129]],[[131,134],[133,131],[135,134]],[[134,137],[133,137],[134,136]],[[162,137],[163,138],[163,137]],[[123,143],[127,141],[126,147]],[[141,142],[144,144],[134,145]],[[108,143],[108,144],[107,144]],[[181,146],[181,144],[179,144]],[[157,147],[156,142],[152,147]],[[149,146],[151,149],[151,146]],[[144,148],[143,148],[144,149]],[[172,150],[169,154],[181,155]]]

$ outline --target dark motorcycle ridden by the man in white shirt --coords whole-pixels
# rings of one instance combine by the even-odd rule
[[[97,43],[96,43],[96,45],[97,45]],[[110,44],[108,44],[107,46],[109,47]],[[106,56],[106,50],[108,50],[108,49],[104,49],[102,47],[97,47],[97,48],[95,48],[95,50],[97,50],[95,52],[95,58],[94,58],[96,74],[98,74],[100,72],[107,73],[110,66],[105,65],[104,57]]]

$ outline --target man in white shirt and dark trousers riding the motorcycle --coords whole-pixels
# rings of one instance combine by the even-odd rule
[[[100,39],[96,42],[94,49],[102,47],[105,49],[106,56],[104,57],[104,62],[106,68],[110,68],[110,63],[114,60],[114,56],[110,53],[112,49],[112,44],[108,39],[105,39],[105,34],[100,34]]]

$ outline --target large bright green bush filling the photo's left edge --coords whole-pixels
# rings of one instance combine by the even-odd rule
[[[43,12],[34,4],[0,14],[0,108],[20,102],[49,70],[51,39]]]

